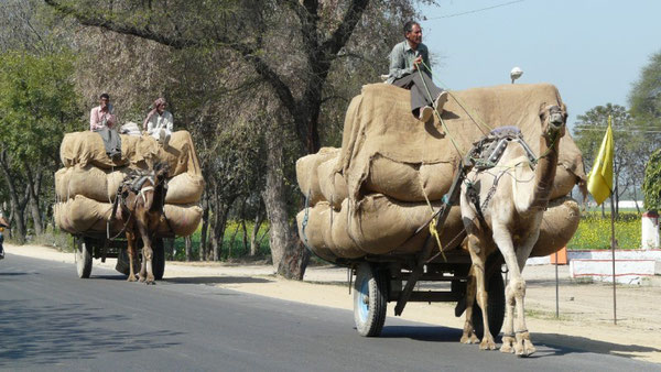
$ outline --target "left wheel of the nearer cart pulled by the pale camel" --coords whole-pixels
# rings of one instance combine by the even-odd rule
[[[368,263],[361,263],[354,286],[354,321],[360,336],[376,337],[381,333],[388,305],[387,282],[383,272]]]

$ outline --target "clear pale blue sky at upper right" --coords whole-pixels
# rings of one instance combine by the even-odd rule
[[[595,106],[628,108],[631,85],[661,52],[661,0],[437,2],[420,9],[435,79],[453,90],[510,84],[518,66],[517,83],[559,88],[571,128]]]

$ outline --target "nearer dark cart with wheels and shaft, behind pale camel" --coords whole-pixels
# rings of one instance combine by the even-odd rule
[[[468,164],[468,165],[463,165]],[[469,161],[459,164],[459,172],[447,194],[448,198],[435,214],[437,226],[443,226],[449,208],[458,201],[462,180],[473,164]],[[431,220],[430,220],[431,222]],[[427,222],[427,225],[430,223]],[[427,225],[418,229],[416,233]],[[359,260],[344,261],[351,269],[354,283],[354,320],[358,333],[376,337],[381,333],[386,321],[389,302],[395,302],[394,315],[402,314],[409,302],[456,302],[455,316],[466,309],[466,287],[470,270],[470,255],[460,249],[433,255],[436,242],[430,234],[421,252],[409,255],[381,254],[367,255]],[[501,267],[503,259],[495,252],[485,267],[486,291],[488,293],[488,324],[491,335],[498,335],[505,318],[505,281]],[[404,285],[405,282],[405,285]],[[449,282],[449,291],[415,291],[419,282]],[[447,287],[447,285],[445,286]],[[477,302],[473,310],[473,326],[479,338],[484,336],[483,315]]]

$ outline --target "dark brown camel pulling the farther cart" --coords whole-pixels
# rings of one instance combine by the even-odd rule
[[[127,177],[120,186],[118,218],[124,223],[128,241],[129,282],[136,281],[133,258],[140,236],[143,243],[140,282],[154,284],[152,240],[161,219],[164,218],[163,205],[167,192],[165,179],[169,172],[167,164],[158,163],[151,172],[137,173]]]

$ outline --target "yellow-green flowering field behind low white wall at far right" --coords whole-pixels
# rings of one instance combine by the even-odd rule
[[[636,212],[619,212],[615,221],[615,239],[619,249],[640,248],[641,223]],[[610,214],[586,212],[581,217],[578,230],[567,243],[571,250],[610,249]]]

